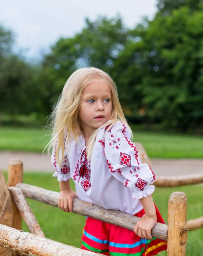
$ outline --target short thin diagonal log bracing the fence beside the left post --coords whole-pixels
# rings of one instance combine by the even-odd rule
[[[25,221],[25,224],[30,230],[30,233],[45,237],[39,223],[37,222],[37,219],[34,216],[34,213],[23,195],[22,190],[16,187],[9,187],[8,189],[11,192],[12,198],[14,199],[14,202]]]

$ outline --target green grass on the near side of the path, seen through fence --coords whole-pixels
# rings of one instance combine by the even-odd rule
[[[5,177],[6,177],[6,173]],[[47,173],[25,173],[24,183],[34,186],[40,186],[45,189],[58,191],[59,184],[56,178]],[[71,184],[73,187],[73,183]],[[203,186],[181,186],[174,188],[156,188],[153,194],[155,204],[161,215],[167,222],[168,199],[174,191],[182,191],[187,196],[187,219],[203,216],[202,198]],[[85,217],[73,213],[66,213],[62,210],[28,199],[39,225],[45,236],[49,239],[80,247],[82,229],[85,224]],[[28,232],[25,223],[23,230]],[[203,228],[189,231],[187,242],[187,256],[203,256]],[[166,256],[166,252],[159,253],[160,256]]]

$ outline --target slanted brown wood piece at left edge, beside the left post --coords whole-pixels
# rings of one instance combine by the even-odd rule
[[[0,224],[12,227],[13,208],[11,196],[6,186],[6,180],[0,170]],[[0,246],[0,256],[11,256],[12,251]]]

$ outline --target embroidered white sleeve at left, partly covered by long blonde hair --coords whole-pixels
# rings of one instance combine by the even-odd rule
[[[59,163],[56,161],[56,150],[57,150],[57,140],[54,143],[54,149],[51,155],[51,163],[54,166],[55,173],[53,174],[53,177],[57,177],[58,181],[66,181],[71,178],[70,176],[70,166],[67,159],[67,155],[65,154],[64,150],[64,156],[61,165],[59,166]],[[59,158],[62,157],[62,150],[59,151]]]

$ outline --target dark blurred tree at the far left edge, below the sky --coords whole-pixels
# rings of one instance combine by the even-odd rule
[[[35,109],[36,68],[12,52],[11,31],[0,26],[0,114],[30,114]]]

